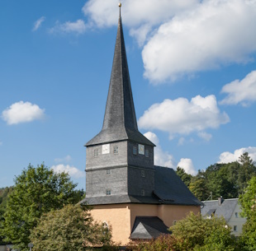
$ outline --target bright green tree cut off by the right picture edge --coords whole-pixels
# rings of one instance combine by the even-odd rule
[[[250,181],[244,193],[240,195],[242,215],[247,217],[241,236],[245,250],[256,250],[256,177]]]

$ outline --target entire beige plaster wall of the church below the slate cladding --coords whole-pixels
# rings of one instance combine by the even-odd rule
[[[112,239],[116,243],[126,245],[136,216],[158,216],[165,225],[173,225],[173,221],[183,219],[187,213],[200,212],[200,207],[175,205],[117,204],[100,205],[92,209],[95,221],[107,222],[111,225]]]

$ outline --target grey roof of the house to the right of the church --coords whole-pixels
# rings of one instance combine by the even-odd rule
[[[223,216],[225,218],[225,221],[228,222],[230,221],[230,217],[235,211],[238,200],[238,198],[225,199],[220,205],[218,200],[204,201],[204,207],[201,207],[201,215],[211,216],[214,211],[215,216]]]

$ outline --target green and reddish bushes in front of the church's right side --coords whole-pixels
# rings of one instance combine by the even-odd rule
[[[191,213],[169,229],[172,235],[162,235],[149,242],[130,244],[135,251],[241,251],[239,242],[230,235],[223,218],[206,219]]]

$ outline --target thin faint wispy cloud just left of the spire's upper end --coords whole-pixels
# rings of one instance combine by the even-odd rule
[[[66,21],[64,24],[60,24],[59,21],[56,22],[55,27],[50,29],[50,33],[63,32],[63,33],[76,33],[78,35],[83,34],[88,25],[82,19],[71,22]]]

